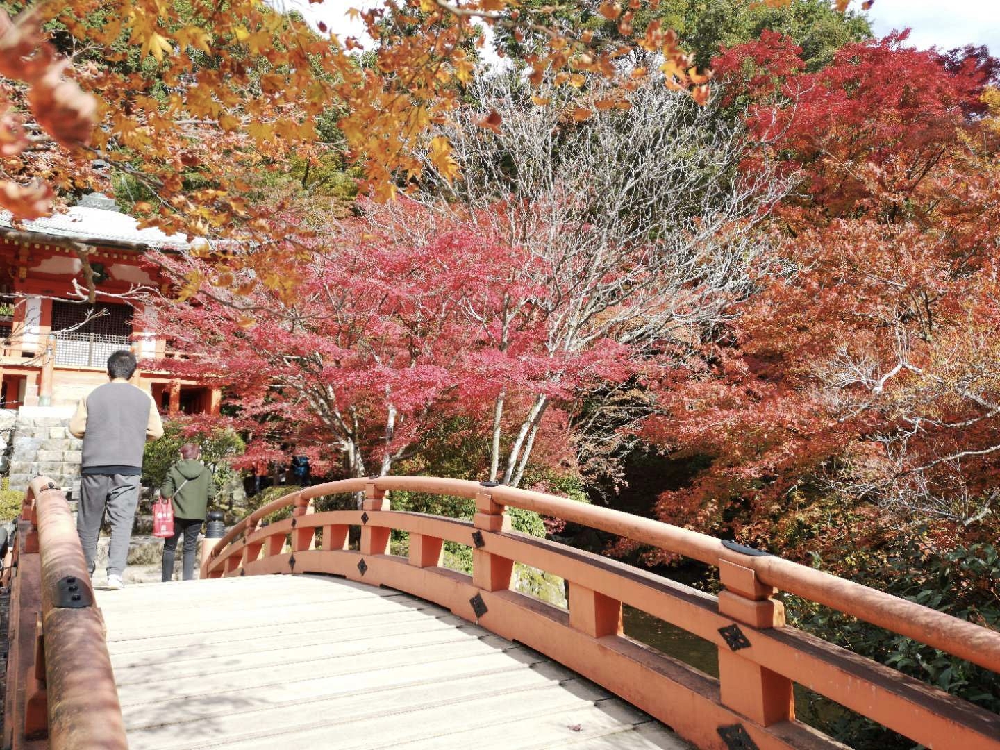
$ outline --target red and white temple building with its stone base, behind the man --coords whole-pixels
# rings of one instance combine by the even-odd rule
[[[78,446],[61,433],[65,444],[57,445],[56,433],[76,402],[107,382],[108,355],[117,349],[135,352],[140,369],[133,382],[164,415],[218,412],[217,387],[151,369],[174,355],[155,329],[133,322],[142,309],[138,290],[168,289],[145,252],[188,246],[183,236],[139,229],[99,193],[34,221],[15,223],[0,212],[0,473],[9,474],[12,487],[37,473],[73,484]],[[85,299],[81,249],[98,292],[93,305]]]

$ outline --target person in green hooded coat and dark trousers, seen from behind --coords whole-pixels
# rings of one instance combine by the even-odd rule
[[[205,522],[208,501],[215,499],[212,472],[198,460],[200,455],[201,449],[194,443],[182,445],[181,458],[167,470],[160,489],[160,494],[169,498],[174,508],[174,535],[163,541],[164,581],[174,577],[174,555],[181,533],[184,534],[184,580],[194,578],[198,532]]]

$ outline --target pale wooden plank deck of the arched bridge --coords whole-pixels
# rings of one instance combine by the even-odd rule
[[[688,747],[540,654],[389,589],[282,575],[97,597],[134,750]]]

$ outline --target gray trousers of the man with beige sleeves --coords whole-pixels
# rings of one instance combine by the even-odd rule
[[[80,535],[83,556],[87,558],[87,569],[91,574],[96,565],[97,537],[101,533],[105,509],[111,523],[108,575],[120,576],[125,572],[141,479],[138,475],[124,474],[84,474],[81,477],[76,531]]]

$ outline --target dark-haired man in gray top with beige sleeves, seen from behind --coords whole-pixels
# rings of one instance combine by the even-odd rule
[[[111,522],[109,589],[124,585],[128,543],[139,505],[143,446],[147,440],[163,435],[163,422],[153,397],[128,382],[135,368],[132,352],[128,349],[114,352],[108,357],[111,382],[81,399],[69,421],[69,431],[83,438],[76,530],[87,568],[93,575],[97,537],[107,511]]]

